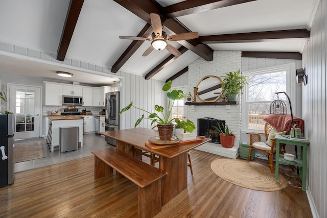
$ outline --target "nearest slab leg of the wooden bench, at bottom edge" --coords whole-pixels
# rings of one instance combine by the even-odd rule
[[[138,217],[153,217],[161,211],[161,179],[138,187]]]

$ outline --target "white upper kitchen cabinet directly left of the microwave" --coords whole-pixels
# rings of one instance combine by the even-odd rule
[[[58,83],[45,83],[44,105],[61,106],[62,85]]]

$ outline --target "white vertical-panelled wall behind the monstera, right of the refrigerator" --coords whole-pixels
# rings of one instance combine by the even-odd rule
[[[127,72],[117,72],[119,76],[122,76],[119,90],[121,91],[120,108],[124,108],[131,101],[135,107],[142,108],[149,112],[155,112],[154,106],[160,105],[166,109],[167,98],[166,92],[162,91],[164,81],[159,80],[145,80],[141,76],[129,74]],[[121,115],[121,127],[120,129],[134,128],[136,120],[144,114],[145,117],[149,116],[141,110],[131,108]],[[153,126],[153,125],[152,125]],[[151,128],[151,120],[144,119],[137,127]]]

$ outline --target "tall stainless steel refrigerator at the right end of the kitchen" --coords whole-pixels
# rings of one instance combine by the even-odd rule
[[[106,93],[106,131],[119,130],[119,91]],[[116,140],[106,137],[106,141],[113,146]]]

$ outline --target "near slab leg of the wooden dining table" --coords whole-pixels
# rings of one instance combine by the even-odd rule
[[[188,152],[174,158],[159,157],[159,169],[167,172],[162,178],[162,205],[188,187]]]

